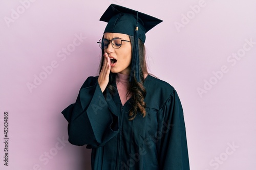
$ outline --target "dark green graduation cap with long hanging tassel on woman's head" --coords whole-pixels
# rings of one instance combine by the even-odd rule
[[[122,33],[134,36],[130,81],[136,78],[140,82],[138,39],[144,43],[146,40],[145,33],[162,20],[115,4],[111,4],[99,20],[108,22],[104,33]]]

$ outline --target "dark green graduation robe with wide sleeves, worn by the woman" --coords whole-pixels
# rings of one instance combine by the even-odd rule
[[[172,86],[148,75],[146,116],[129,120],[131,99],[122,106],[118,91],[103,95],[97,79],[89,77],[76,103],[62,111],[69,142],[92,149],[93,170],[189,169],[183,110]]]

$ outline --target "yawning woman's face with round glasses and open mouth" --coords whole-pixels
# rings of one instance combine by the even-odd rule
[[[112,40],[119,37],[122,40],[130,41],[129,35],[120,33],[104,33],[104,38]],[[132,61],[132,44],[131,42],[122,41],[120,48],[113,48],[109,44],[108,48],[104,50],[104,53],[108,53],[110,57],[110,71],[113,73],[120,73],[123,75],[130,74],[130,64]]]

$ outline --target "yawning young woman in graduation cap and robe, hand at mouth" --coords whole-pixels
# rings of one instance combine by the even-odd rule
[[[178,94],[145,61],[145,33],[162,20],[114,4],[100,20],[99,76],[62,111],[70,143],[92,149],[92,169],[189,169]]]

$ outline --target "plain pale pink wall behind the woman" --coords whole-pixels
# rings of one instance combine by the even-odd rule
[[[0,169],[90,169],[91,151],[65,143],[68,123],[60,112],[75,102],[84,80],[97,75],[96,42],[106,26],[99,18],[111,3],[164,20],[146,35],[147,61],[180,96],[190,169],[255,169],[253,0],[1,1]],[[35,85],[35,77],[44,80]]]

